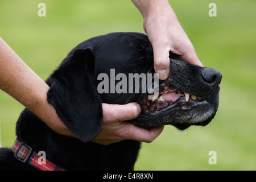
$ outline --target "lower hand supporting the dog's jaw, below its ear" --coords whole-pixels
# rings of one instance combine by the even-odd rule
[[[163,126],[146,130],[126,121],[138,117],[141,113],[141,106],[137,103],[132,102],[126,105],[102,104],[102,109],[102,130],[92,142],[108,145],[121,140],[132,139],[150,143],[163,131]]]

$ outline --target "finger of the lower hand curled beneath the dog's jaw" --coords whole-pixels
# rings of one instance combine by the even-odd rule
[[[127,139],[137,140],[139,142],[151,143],[156,137],[158,137],[164,129],[164,126],[152,127],[151,129],[143,129],[135,125],[130,125],[130,129],[127,132],[129,136]]]

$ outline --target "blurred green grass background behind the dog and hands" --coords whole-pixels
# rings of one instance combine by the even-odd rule
[[[46,17],[38,4],[46,4]],[[217,5],[210,17],[209,3]],[[206,127],[163,133],[143,143],[136,170],[256,169],[256,1],[170,1],[205,67],[222,73],[220,107]],[[43,80],[77,44],[117,31],[144,32],[129,0],[0,1],[0,36]],[[0,65],[1,66],[1,65]],[[24,106],[0,91],[1,142],[11,147]],[[217,164],[210,165],[209,151]]]

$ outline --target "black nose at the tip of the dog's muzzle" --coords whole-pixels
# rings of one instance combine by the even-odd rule
[[[206,84],[210,90],[217,88],[220,85],[222,75],[216,69],[203,68],[201,71],[204,84]]]

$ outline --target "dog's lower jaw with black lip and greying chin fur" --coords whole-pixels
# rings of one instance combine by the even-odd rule
[[[170,106],[154,111],[154,113],[143,113],[130,122],[145,129],[160,125],[173,125],[179,130],[184,130],[191,125],[207,125],[216,111],[217,108],[207,100],[186,102],[185,96],[182,96]]]

